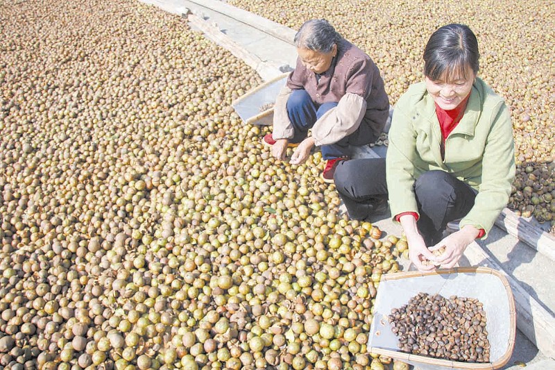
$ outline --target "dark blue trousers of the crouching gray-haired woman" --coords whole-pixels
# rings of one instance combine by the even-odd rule
[[[307,90],[293,90],[287,99],[287,113],[289,120],[295,128],[292,143],[302,142],[307,133],[325,112],[337,106],[337,102],[323,103],[321,106],[312,101]],[[354,133],[343,137],[343,139],[330,145],[321,146],[322,158],[330,160],[334,158],[350,158],[352,154],[351,145],[360,146],[375,142],[377,137],[373,134],[370,125],[363,120]]]

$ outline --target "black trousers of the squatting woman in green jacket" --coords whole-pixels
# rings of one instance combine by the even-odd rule
[[[388,196],[385,162],[361,158],[337,166],[335,185],[350,218],[368,219],[373,205]],[[466,216],[476,197],[472,187],[439,170],[422,174],[414,183],[414,193],[420,214],[417,226],[427,246],[440,242],[447,223]]]

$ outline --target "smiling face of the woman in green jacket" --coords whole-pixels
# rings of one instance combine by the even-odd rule
[[[467,67],[466,74],[464,75],[459,74],[459,76],[455,75],[450,78],[442,77],[436,81],[426,77],[426,89],[432,95],[439,108],[452,110],[459,106],[466,96],[470,94],[475,78],[476,74],[472,71],[472,68]]]

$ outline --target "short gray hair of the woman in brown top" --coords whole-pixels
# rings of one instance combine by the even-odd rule
[[[310,49],[320,53],[329,53],[334,44],[341,40],[341,35],[325,19],[310,19],[300,26],[293,41],[298,48]]]

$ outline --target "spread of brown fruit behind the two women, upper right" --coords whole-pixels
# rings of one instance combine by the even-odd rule
[[[479,42],[478,76],[511,110],[517,174],[509,208],[522,217],[533,216],[555,234],[555,38],[546,32],[555,29],[553,2],[228,2],[293,29],[307,19],[329,20],[373,58],[392,104],[411,83],[423,81],[422,53],[429,36],[445,24],[468,24]]]

